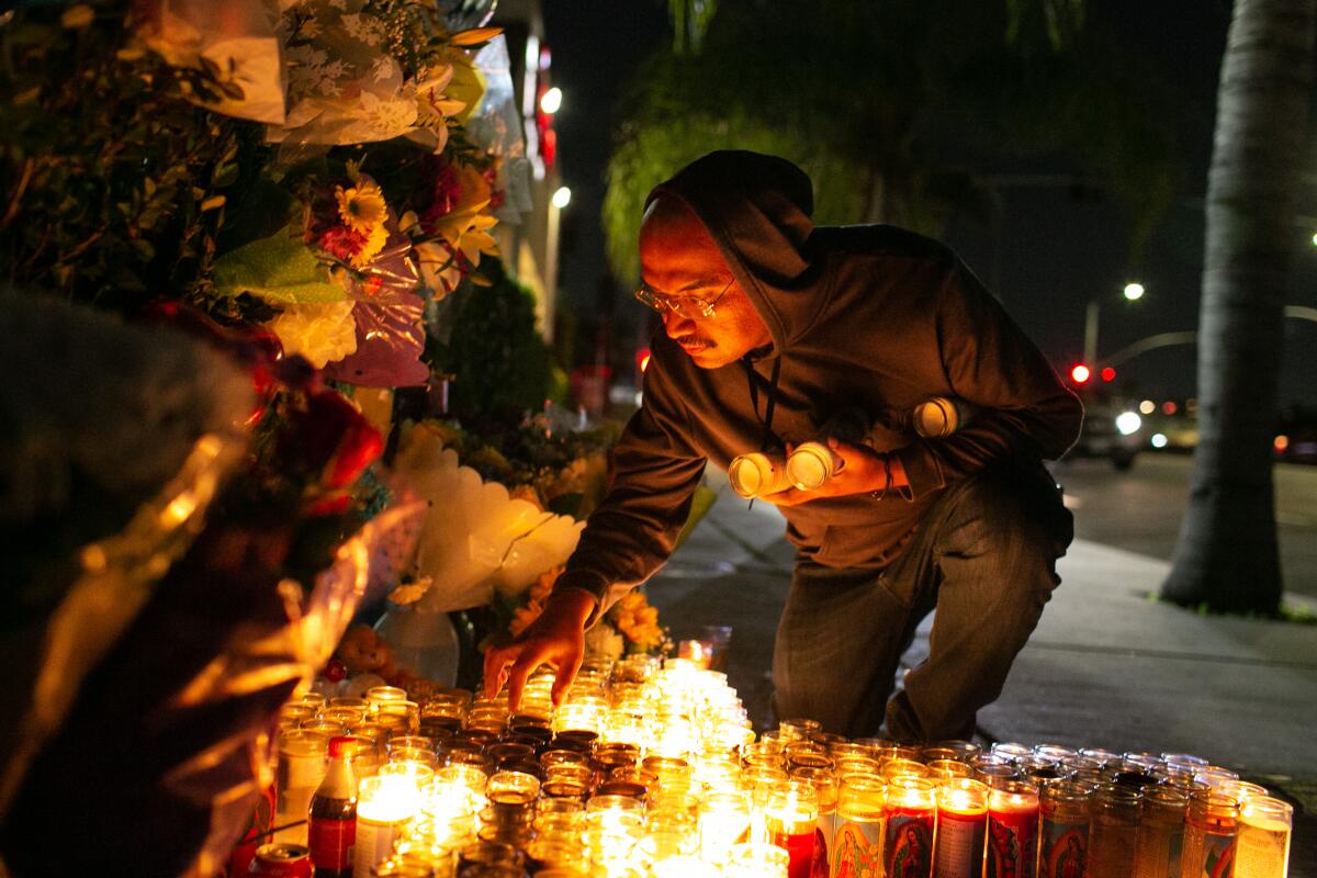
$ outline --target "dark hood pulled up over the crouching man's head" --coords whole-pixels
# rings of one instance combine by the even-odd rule
[[[807,328],[817,300],[807,295],[814,187],[805,171],[782,158],[720,150],[656,186],[645,205],[660,196],[681,200],[705,224],[777,351]]]

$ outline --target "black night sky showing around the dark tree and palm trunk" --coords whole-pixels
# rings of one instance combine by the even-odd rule
[[[607,309],[599,201],[615,130],[614,105],[635,63],[670,39],[660,0],[545,0],[545,30],[553,50],[553,82],[565,100],[558,113],[560,162],[573,201],[564,220],[562,295],[579,313]],[[982,225],[956,224],[943,240],[1001,296],[1025,330],[1068,369],[1083,351],[1085,303],[1101,297],[1100,353],[1146,336],[1197,328],[1202,265],[1202,195],[1212,149],[1217,75],[1229,25],[1229,4],[1090,3],[1094,22],[1118,33],[1131,57],[1151,61],[1173,97],[1173,129],[1184,180],[1175,207],[1154,234],[1139,279],[1142,301],[1126,303],[1121,288],[1134,279],[1126,265],[1129,224],[1110,199],[1079,200],[1063,188],[1002,190],[1000,234]],[[985,174],[1056,174],[1079,166],[1065,157],[1002,162],[957,157]],[[676,168],[673,168],[676,170]],[[1317,186],[1305,183],[1300,213],[1317,216]],[[1306,241],[1314,229],[1296,229]],[[612,283],[619,332],[640,333],[640,305],[626,295],[632,278]],[[1296,258],[1289,304],[1317,307],[1317,247]],[[587,340],[582,340],[589,345]],[[1283,403],[1317,405],[1317,324],[1285,321]],[[1192,346],[1144,354],[1119,370],[1117,384],[1137,396],[1193,394]]]

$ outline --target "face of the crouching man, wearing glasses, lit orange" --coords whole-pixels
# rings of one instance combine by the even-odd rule
[[[736,362],[772,341],[768,325],[732,279],[709,229],[684,203],[658,197],[640,224],[640,274],[658,296],[693,296],[714,315],[660,308],[664,330],[701,369]]]

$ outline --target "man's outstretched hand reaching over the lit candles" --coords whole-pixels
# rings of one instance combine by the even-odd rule
[[[564,588],[549,595],[544,612],[506,646],[485,653],[485,694],[498,695],[507,683],[512,712],[522,704],[525,679],[540,665],[552,665],[553,703],[561,704],[585,656],[585,623],[594,612],[594,595],[581,588]]]

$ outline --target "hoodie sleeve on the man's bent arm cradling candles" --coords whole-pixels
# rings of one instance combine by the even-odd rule
[[[1079,437],[1084,408],[1001,304],[956,261],[935,304],[938,350],[956,396],[981,411],[944,440],[896,452],[913,496],[993,461],[1056,459]]]

